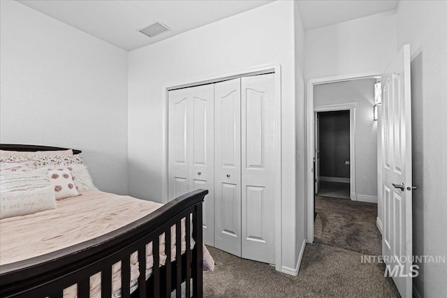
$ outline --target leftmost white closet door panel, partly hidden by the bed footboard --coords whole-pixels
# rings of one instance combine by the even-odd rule
[[[168,98],[168,200],[189,191],[189,96],[169,91]]]

